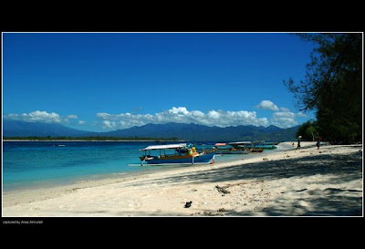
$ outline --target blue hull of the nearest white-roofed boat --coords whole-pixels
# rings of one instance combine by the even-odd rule
[[[163,165],[163,164],[194,164],[194,163],[209,163],[214,161],[215,153],[208,153],[198,156],[176,156],[176,157],[151,157],[144,160],[147,164]]]

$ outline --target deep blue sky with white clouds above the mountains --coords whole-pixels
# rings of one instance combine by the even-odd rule
[[[3,119],[108,131],[147,123],[314,119],[284,79],[313,45],[289,33],[3,33]]]

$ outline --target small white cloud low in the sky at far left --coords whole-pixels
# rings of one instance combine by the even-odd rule
[[[45,110],[36,110],[23,114],[7,114],[3,116],[4,119],[21,120],[26,122],[43,122],[43,123],[68,123],[69,119],[78,119],[78,116],[70,114],[62,117],[55,112],[47,112]]]

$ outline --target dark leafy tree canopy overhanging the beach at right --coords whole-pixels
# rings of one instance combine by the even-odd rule
[[[284,81],[300,110],[315,110],[327,140],[360,140],[362,129],[362,33],[298,34],[317,45],[299,83]]]

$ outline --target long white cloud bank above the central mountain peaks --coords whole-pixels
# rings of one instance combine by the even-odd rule
[[[99,119],[103,119],[102,128],[106,130],[127,129],[133,126],[142,126],[145,124],[164,124],[169,122],[178,123],[195,123],[206,126],[238,126],[238,125],[269,125],[266,118],[259,119],[255,111],[224,111],[209,110],[204,113],[201,110],[189,111],[185,107],[173,107],[155,114],[109,114],[105,112],[97,113]]]

